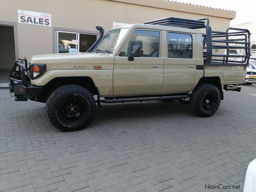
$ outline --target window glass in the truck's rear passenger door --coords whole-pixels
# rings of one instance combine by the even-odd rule
[[[168,57],[192,58],[192,36],[168,33]]]

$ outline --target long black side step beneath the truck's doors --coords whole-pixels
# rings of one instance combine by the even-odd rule
[[[154,100],[166,100],[166,99],[186,99],[189,98],[188,95],[178,95],[178,96],[164,96],[164,97],[140,97],[140,98],[128,98],[128,99],[109,99],[101,100],[102,103],[124,103],[124,102],[134,102],[134,101],[154,101]]]

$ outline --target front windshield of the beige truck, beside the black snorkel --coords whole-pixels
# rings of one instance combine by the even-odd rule
[[[106,35],[101,39],[100,43],[95,47],[93,52],[106,51],[113,53],[128,30],[129,28],[122,28],[108,31],[108,33],[106,33]]]

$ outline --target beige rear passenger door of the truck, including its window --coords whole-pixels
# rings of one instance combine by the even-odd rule
[[[167,31],[167,42],[161,92],[190,92],[196,77],[196,35]]]

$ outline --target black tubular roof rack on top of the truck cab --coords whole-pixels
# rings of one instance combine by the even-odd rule
[[[184,19],[184,18],[178,18],[178,17],[166,17],[166,18],[163,18],[163,19],[148,21],[148,22],[145,22],[144,24],[164,25],[164,26],[172,26],[172,27],[198,29],[198,28],[205,28],[205,21],[204,20],[207,21],[206,25],[209,25],[209,19],[208,18]]]

